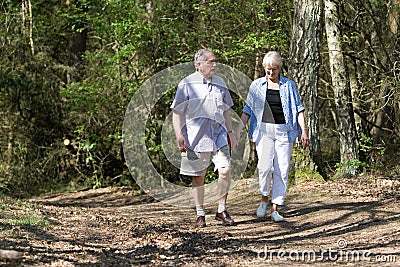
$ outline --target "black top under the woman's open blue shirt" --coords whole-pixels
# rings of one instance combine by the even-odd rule
[[[266,123],[285,124],[281,97],[279,90],[267,90],[262,121]]]

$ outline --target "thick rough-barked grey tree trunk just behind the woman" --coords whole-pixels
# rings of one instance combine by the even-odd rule
[[[296,82],[306,107],[306,119],[310,136],[310,156],[301,164],[311,166],[327,179],[322,161],[319,140],[318,71],[320,66],[320,42],[322,31],[322,0],[302,0],[294,9],[292,56],[289,76]],[[298,153],[301,153],[298,151]],[[302,166],[300,166],[302,167]],[[297,168],[296,168],[297,169]]]

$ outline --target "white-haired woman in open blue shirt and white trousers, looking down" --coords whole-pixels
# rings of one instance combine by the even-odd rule
[[[256,144],[258,155],[261,203],[257,216],[264,217],[272,184],[271,219],[284,218],[278,213],[283,205],[293,143],[301,137],[303,147],[309,145],[304,121],[304,107],[296,84],[280,75],[283,61],[276,51],[268,52],[263,59],[266,76],[252,82],[243,108],[237,134],[250,120],[248,137]],[[239,136],[238,136],[239,137]]]

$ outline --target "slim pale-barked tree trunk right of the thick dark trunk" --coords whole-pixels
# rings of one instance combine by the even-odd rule
[[[340,142],[340,161],[343,175],[357,172],[358,138],[354,121],[352,96],[345,58],[341,47],[341,29],[338,7],[334,1],[325,0],[325,29],[336,106]]]

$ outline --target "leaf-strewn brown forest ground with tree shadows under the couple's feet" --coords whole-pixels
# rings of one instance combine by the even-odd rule
[[[215,221],[213,204],[202,229],[193,209],[129,188],[1,198],[0,249],[21,253],[1,266],[400,266],[399,177],[292,186],[281,223],[255,216],[254,180],[241,180],[228,200],[236,225]]]

